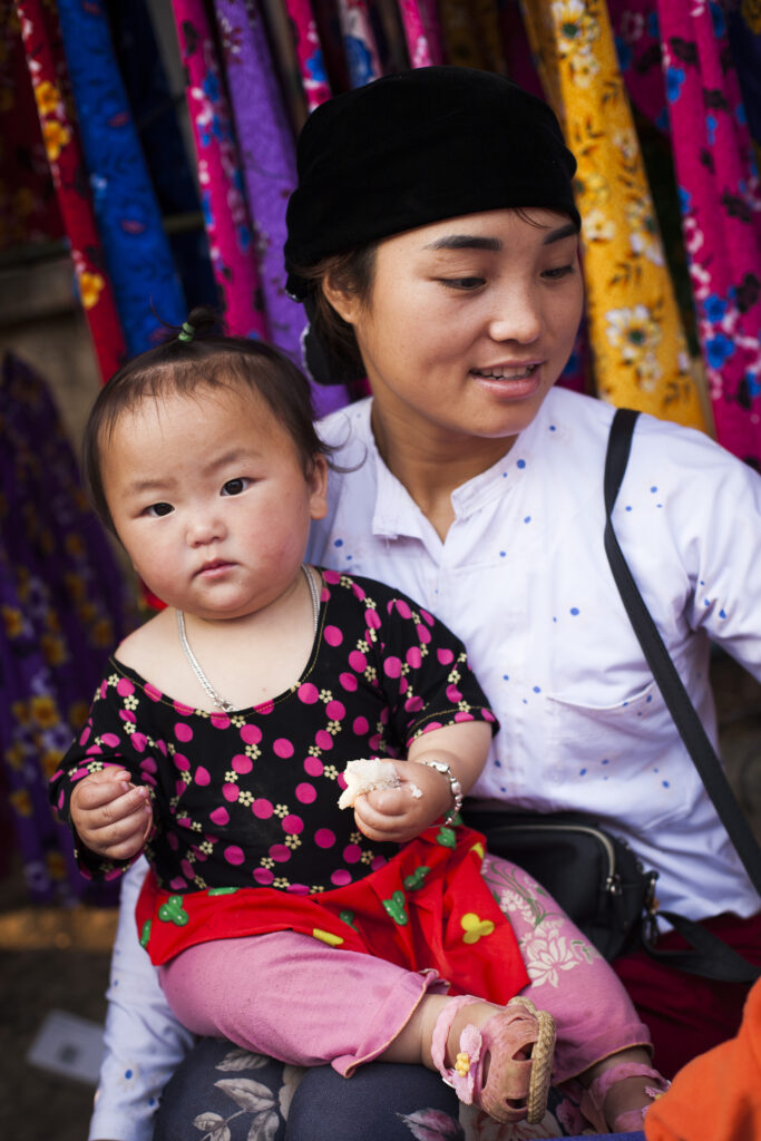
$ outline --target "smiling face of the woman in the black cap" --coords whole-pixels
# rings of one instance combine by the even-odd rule
[[[329,300],[354,326],[379,435],[467,447],[534,419],[573,349],[582,292],[565,216],[492,210],[381,242],[371,296]]]

